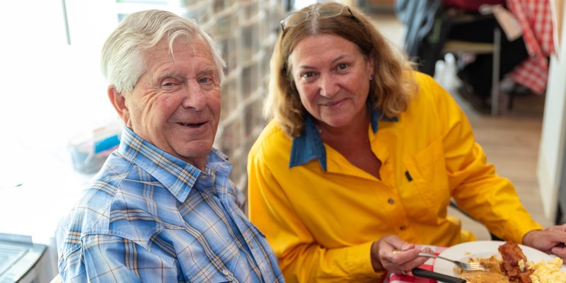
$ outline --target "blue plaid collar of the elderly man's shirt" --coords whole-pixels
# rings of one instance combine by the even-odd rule
[[[126,159],[154,176],[180,202],[187,199],[190,190],[197,183],[197,178],[203,173],[190,163],[141,139],[129,127],[124,127],[122,131],[118,151]],[[229,173],[231,166],[224,154],[212,149],[207,156],[207,169]]]

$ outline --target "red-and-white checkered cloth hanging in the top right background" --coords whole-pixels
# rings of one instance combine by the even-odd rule
[[[507,0],[516,16],[530,57],[511,73],[514,81],[538,94],[545,91],[548,81],[548,61],[554,53],[553,19],[549,0]]]

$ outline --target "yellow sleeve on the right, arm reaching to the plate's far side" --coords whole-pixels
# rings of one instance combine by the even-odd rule
[[[431,79],[432,81],[432,79]],[[426,85],[426,83],[425,83]],[[522,243],[523,236],[542,229],[523,207],[511,181],[502,178],[475,141],[468,118],[437,83],[425,88],[439,93],[437,111],[451,196],[458,207],[505,240]]]

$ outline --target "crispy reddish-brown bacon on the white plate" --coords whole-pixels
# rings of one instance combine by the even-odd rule
[[[512,241],[505,242],[499,246],[499,253],[503,261],[501,262],[501,270],[509,277],[511,282],[532,283],[529,275],[533,273],[526,264],[526,256],[519,245]],[[519,262],[523,260],[523,265],[520,266]]]

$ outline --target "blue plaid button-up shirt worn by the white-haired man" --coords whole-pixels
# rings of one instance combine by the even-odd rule
[[[231,165],[205,171],[125,127],[57,235],[64,282],[283,282],[265,236],[237,204]]]

